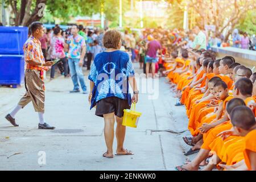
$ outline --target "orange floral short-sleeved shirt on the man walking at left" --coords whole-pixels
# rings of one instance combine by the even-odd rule
[[[24,59],[27,63],[27,69],[36,69],[39,71],[43,71],[44,68],[40,66],[34,66],[30,64],[31,60],[39,61],[40,63],[45,63],[44,55],[41,49],[41,43],[38,39],[34,38],[34,36],[30,36],[27,39],[26,43],[23,46],[24,51]]]

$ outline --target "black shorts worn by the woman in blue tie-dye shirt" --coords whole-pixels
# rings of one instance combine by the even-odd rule
[[[96,103],[96,115],[103,117],[103,114],[115,113],[119,118],[123,117],[123,109],[130,109],[128,100],[118,97],[108,97]]]

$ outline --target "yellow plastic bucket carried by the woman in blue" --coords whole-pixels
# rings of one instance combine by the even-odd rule
[[[135,111],[135,104],[131,105],[131,109],[124,109],[123,112],[123,126],[136,128],[142,113]]]

